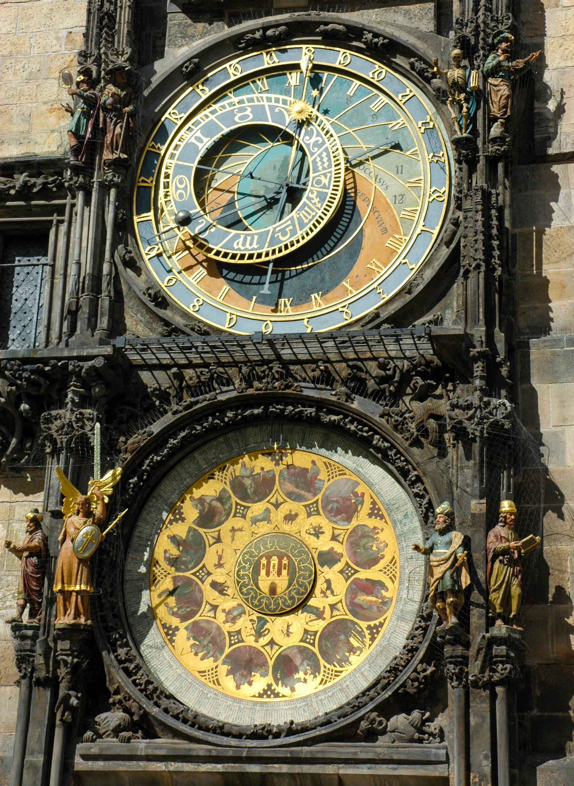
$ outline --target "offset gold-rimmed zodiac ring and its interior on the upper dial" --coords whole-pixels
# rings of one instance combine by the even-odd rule
[[[215,101],[182,127],[162,168],[162,229],[189,212],[182,242],[213,259],[256,263],[289,253],[340,204],[337,134],[303,101],[251,94]]]

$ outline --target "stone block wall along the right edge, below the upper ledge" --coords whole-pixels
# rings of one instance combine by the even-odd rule
[[[538,763],[564,756],[572,739],[574,164],[517,167],[513,200],[521,419],[549,466],[536,602],[524,615],[532,692],[524,691],[521,704],[530,753]]]

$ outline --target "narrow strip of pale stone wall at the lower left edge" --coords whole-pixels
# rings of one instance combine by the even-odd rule
[[[31,508],[42,509],[44,472],[23,472],[0,477],[0,786],[9,783],[16,729],[18,672],[9,626],[4,622],[16,610],[20,560],[4,549],[6,539],[21,543]],[[24,615],[26,619],[26,615]]]

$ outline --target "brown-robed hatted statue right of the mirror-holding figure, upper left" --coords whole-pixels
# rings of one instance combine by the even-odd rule
[[[104,134],[105,163],[129,163],[131,132],[134,127],[134,92],[127,83],[127,71],[119,66],[112,71],[112,83],[101,96],[100,126]]]

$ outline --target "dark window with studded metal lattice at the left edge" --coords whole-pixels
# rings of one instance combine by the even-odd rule
[[[0,265],[0,346],[39,347],[48,237],[6,237]]]

